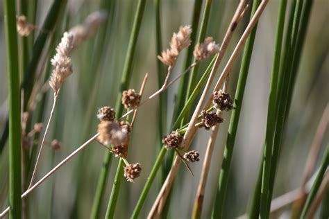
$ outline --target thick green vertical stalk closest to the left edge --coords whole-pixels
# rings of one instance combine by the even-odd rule
[[[21,98],[15,1],[3,1],[9,96],[9,218],[21,218]]]

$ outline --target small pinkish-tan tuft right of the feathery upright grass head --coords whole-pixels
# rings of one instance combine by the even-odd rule
[[[202,44],[196,44],[193,55],[196,60],[202,61],[218,52],[219,45],[212,40],[212,37],[207,37]]]

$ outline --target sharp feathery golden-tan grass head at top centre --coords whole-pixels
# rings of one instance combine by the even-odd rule
[[[161,56],[158,55],[158,59],[163,64],[171,67],[174,66],[180,51],[191,44],[191,40],[189,39],[191,33],[191,26],[180,26],[178,33],[174,33],[171,37],[170,49],[162,51]]]

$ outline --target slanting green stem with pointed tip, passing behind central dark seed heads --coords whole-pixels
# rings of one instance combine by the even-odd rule
[[[198,85],[196,85],[194,91],[192,92],[192,95],[189,98],[189,101],[187,101],[187,103],[185,104],[185,106],[183,107],[182,112],[180,112],[180,116],[178,116],[178,119],[176,119],[176,122],[174,123],[174,126],[171,130],[176,130],[179,128],[180,126],[180,119],[179,118],[184,118],[184,116],[187,113],[187,108],[190,107],[190,105],[192,105],[193,101],[195,100],[195,98],[198,96],[199,91],[201,91],[201,87],[203,86],[203,84],[205,83],[205,80],[207,79],[207,77],[210,74],[210,71],[212,69],[212,66],[214,65],[214,60],[216,60],[217,55],[215,55],[215,57],[212,59],[212,62],[210,62],[207,70],[205,71],[205,73],[203,73],[203,76],[201,77],[201,79],[198,82]],[[146,180],[146,184],[144,186],[144,189],[140,195],[140,198],[138,199],[138,202],[136,204],[136,207],[133,211],[133,214],[131,216],[131,218],[138,218],[140,211],[143,207],[143,204],[146,200],[147,195],[149,194],[149,190],[151,189],[151,185],[153,183],[153,180],[155,179],[155,175],[158,172],[158,169],[160,168],[161,164],[162,164],[162,160],[165,158],[166,155],[166,148],[164,146],[162,146],[159,155],[157,157],[157,159],[155,160],[155,164],[153,165],[153,168],[151,170],[151,173],[149,175],[149,177]]]

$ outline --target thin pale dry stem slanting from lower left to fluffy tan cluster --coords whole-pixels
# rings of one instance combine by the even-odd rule
[[[54,168],[52,168],[46,175],[44,175],[44,177],[42,177],[39,181],[37,181],[35,184],[33,184],[33,186],[31,186],[31,188],[27,189],[21,195],[21,198],[26,198],[26,196],[29,193],[31,193],[35,188],[37,188],[37,186],[40,186],[40,184],[42,184],[42,182],[44,182],[51,175],[53,175],[53,173],[55,173],[56,170],[58,170],[61,166],[63,166],[64,164],[66,164],[67,161],[69,161],[72,157],[74,157],[75,155],[77,155],[78,152],[81,152],[81,150],[83,150],[83,148],[85,148],[89,143],[91,143],[92,141],[94,141],[94,139],[96,139],[96,137],[98,137],[98,136],[99,136],[99,133],[95,134],[89,140],[85,141],[85,143],[83,143],[80,147],[78,147],[76,150],[74,150],[74,152],[71,152],[71,154],[69,156],[65,157],[65,159],[63,159],[62,161],[60,161],[60,163],[57,164],[57,166],[55,166]],[[0,213],[0,218],[3,218],[4,216],[6,216],[6,214],[9,212],[9,210],[10,210],[10,207],[7,207],[3,212],[1,212]]]

